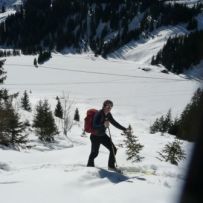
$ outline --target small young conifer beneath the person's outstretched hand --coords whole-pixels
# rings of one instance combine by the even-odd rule
[[[132,128],[129,125],[129,130],[124,134],[126,139],[124,140],[126,145],[127,160],[132,160],[132,162],[139,162],[144,157],[139,155],[140,150],[142,150],[143,145],[138,143],[138,139],[133,135]]]

